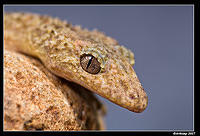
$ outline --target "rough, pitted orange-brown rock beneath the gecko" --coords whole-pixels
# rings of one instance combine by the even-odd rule
[[[104,129],[105,107],[39,60],[4,51],[4,130]]]

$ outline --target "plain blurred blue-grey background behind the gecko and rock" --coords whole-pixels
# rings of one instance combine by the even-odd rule
[[[5,6],[97,28],[130,48],[149,98],[133,113],[98,96],[107,130],[193,129],[193,6]]]

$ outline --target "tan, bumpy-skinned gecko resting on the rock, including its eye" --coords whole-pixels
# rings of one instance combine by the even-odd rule
[[[132,68],[133,53],[102,32],[44,15],[6,13],[4,41],[39,58],[55,75],[121,107],[138,113],[147,107],[147,95]]]

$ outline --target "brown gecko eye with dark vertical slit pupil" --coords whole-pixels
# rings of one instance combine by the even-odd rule
[[[101,64],[94,56],[90,54],[81,55],[80,64],[81,67],[90,74],[97,74],[101,70]]]

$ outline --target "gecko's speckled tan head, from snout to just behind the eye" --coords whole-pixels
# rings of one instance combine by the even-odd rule
[[[135,61],[130,50],[79,40],[68,53],[74,55],[73,63],[68,59],[64,78],[130,111],[139,113],[147,107],[148,98],[132,67]]]

